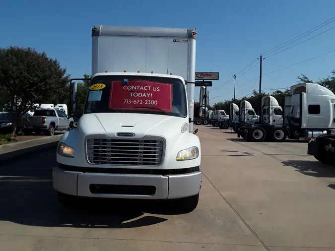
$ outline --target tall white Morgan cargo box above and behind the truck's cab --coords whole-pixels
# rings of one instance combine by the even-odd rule
[[[192,38],[192,39],[190,39]],[[92,76],[105,72],[154,72],[195,82],[196,28],[94,25]],[[189,114],[194,119],[195,84],[186,86]],[[190,123],[193,131],[193,123]]]

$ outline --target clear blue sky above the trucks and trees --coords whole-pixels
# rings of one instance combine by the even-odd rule
[[[91,71],[94,24],[196,27],[197,71],[220,72],[220,80],[214,81],[209,89],[210,97],[219,96],[210,101],[212,104],[233,97],[233,82],[217,89],[232,74],[261,53],[332,18],[334,10],[335,0],[11,0],[1,2],[0,47],[30,46],[45,51],[67,67],[72,77],[81,77]],[[288,47],[333,26],[335,22]],[[335,29],[265,57],[263,74],[332,50],[335,50]],[[333,69],[335,52],[263,76],[262,89],[295,84],[300,73],[317,80]],[[258,75],[259,65],[236,79],[237,98],[258,90],[258,80],[249,82]],[[198,97],[196,93],[195,99]]]

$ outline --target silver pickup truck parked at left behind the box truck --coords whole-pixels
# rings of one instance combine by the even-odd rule
[[[69,129],[69,118],[61,109],[38,108],[33,116],[26,117],[20,123],[24,134],[35,132],[54,135],[55,130]]]

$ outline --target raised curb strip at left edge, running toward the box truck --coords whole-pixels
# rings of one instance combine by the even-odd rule
[[[62,136],[63,134],[1,145],[0,161],[7,161],[18,156],[21,158],[21,155],[56,147]]]

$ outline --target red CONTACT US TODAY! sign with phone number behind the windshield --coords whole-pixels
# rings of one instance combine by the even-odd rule
[[[146,80],[113,81],[109,108],[137,110],[134,107],[156,107],[172,112],[172,84]]]

